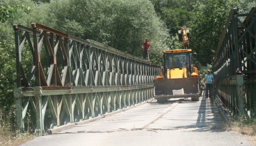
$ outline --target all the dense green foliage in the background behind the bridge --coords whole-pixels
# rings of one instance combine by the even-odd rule
[[[0,114],[15,108],[12,24],[41,23],[138,57],[142,57],[142,42],[149,37],[154,63],[161,62],[162,50],[182,48],[177,32],[186,26],[191,48],[198,55],[195,62],[204,70],[211,66],[230,9],[249,12],[255,5],[255,0],[1,0]]]

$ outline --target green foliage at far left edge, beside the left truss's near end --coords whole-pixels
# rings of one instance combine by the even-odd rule
[[[10,22],[19,12],[29,13],[31,7],[20,3],[15,5],[15,0],[5,0],[0,4],[0,108],[8,111],[14,107],[13,89],[16,85],[14,30]]]

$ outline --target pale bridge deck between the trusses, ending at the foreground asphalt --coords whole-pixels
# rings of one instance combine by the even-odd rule
[[[171,99],[165,104],[156,100],[131,110],[58,132],[114,132],[129,130],[167,130],[219,126],[222,119],[210,99]]]

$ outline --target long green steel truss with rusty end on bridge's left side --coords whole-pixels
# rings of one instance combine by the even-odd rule
[[[154,96],[157,64],[42,24],[13,27],[21,132],[46,134]]]

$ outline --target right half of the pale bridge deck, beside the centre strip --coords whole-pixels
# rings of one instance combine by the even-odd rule
[[[222,126],[222,115],[209,98],[200,97],[199,101],[191,101],[190,98],[170,99],[167,103],[172,102],[178,102],[178,105],[147,126],[147,129],[205,131]]]

